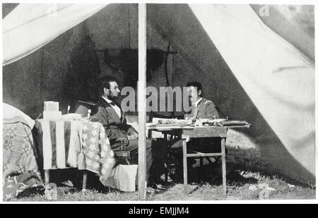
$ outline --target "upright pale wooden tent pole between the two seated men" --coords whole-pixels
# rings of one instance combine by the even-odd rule
[[[138,30],[138,184],[139,199],[146,199],[146,4],[139,4]]]

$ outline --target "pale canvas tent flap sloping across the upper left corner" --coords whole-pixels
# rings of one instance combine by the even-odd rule
[[[3,20],[3,65],[35,52],[107,4],[19,4]]]

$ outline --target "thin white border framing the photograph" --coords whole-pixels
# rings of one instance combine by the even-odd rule
[[[18,1],[9,1],[9,0],[5,0],[5,1],[2,1],[1,0],[1,4],[2,3],[41,3],[41,4],[49,4],[49,3],[77,3],[77,4],[98,4],[98,3],[102,3],[102,4],[105,4],[105,3],[114,3],[114,4],[118,4],[118,3],[131,3],[131,4],[136,4],[136,3],[148,3],[148,4],[172,4],[172,3],[177,3],[177,4],[298,4],[298,5],[303,5],[303,4],[310,4],[310,5],[314,5],[315,6],[315,19],[314,19],[314,22],[315,22],[315,30],[317,30],[317,16],[318,16],[318,9],[317,9],[317,6],[318,6],[318,3],[317,1],[313,1],[313,0],[279,0],[279,1],[274,1],[274,0],[267,0],[267,1],[264,1],[264,0],[249,0],[249,1],[245,1],[245,0],[236,0],[236,1],[233,1],[233,0],[223,0],[223,1],[220,1],[220,0],[197,0],[197,1],[169,1],[169,0],[134,0],[134,1],[118,1],[118,0],[112,0],[112,1],[105,1],[105,0],[42,0],[42,1],[31,1],[31,0],[18,0]],[[0,12],[2,14],[2,6],[1,6],[1,9],[0,9]],[[2,23],[0,24],[0,29],[2,30]],[[2,32],[2,31],[1,31]],[[317,40],[317,33],[315,34],[315,48],[316,48],[316,44],[318,42]],[[1,51],[3,51],[2,49],[2,35],[0,36],[0,47],[1,47]],[[315,50],[315,56],[317,57],[318,55],[318,52],[317,52],[317,49]],[[0,52],[0,59],[2,59],[2,52]],[[2,102],[2,68],[0,70],[0,75],[1,75],[1,102]],[[317,75],[317,71],[315,72],[315,75]],[[315,87],[317,87],[317,84],[318,84],[318,78],[317,76],[315,77]],[[315,99],[316,99],[316,102],[317,102],[317,88],[315,89]],[[0,119],[2,120],[2,107],[0,107]],[[316,111],[316,114],[318,112],[318,109],[316,107],[315,109]],[[316,121],[316,129],[317,129],[317,121]],[[2,139],[2,125],[0,127],[0,138]],[[316,145],[317,145],[317,139],[318,139],[318,133],[316,132]],[[316,146],[317,147],[317,146]],[[0,154],[3,154],[2,152],[2,143],[1,143],[1,146],[0,146]],[[317,173],[318,173],[318,169],[317,169],[317,157],[318,157],[318,152],[317,152],[317,149],[316,149],[316,178],[317,178]],[[0,177],[1,177],[1,181],[2,181],[2,155],[0,155]],[[317,187],[317,179],[316,179],[316,187]],[[121,203],[121,204],[135,204],[135,205],[139,205],[139,204],[171,204],[171,205],[174,205],[174,204],[211,204],[211,203],[214,203],[214,204],[294,204],[294,203],[301,203],[301,204],[307,204],[307,203],[318,203],[318,200],[317,200],[317,189],[316,189],[316,200],[176,200],[176,201],[93,201],[93,202],[78,202],[78,201],[71,201],[71,202],[41,202],[42,204],[65,204],[65,203],[70,203],[70,204],[105,204],[105,203],[108,203],[108,204],[118,204],[118,203]],[[2,202],[3,200],[3,194],[2,194],[2,183],[1,183],[1,187],[0,187],[0,202],[1,203],[4,203],[4,204],[25,204],[25,203],[38,203],[38,202]],[[131,205],[131,207],[133,207],[133,205]]]

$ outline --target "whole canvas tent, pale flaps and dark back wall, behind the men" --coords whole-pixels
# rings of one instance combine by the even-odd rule
[[[3,68],[4,102],[36,117],[45,100],[94,101],[100,76],[116,73],[124,81],[134,73],[130,65],[107,61],[138,48],[137,5],[64,5],[54,9],[57,16],[45,15],[43,6],[33,13],[38,17],[28,16],[31,6],[39,7],[20,4],[3,20],[4,64],[9,63]],[[40,28],[23,29],[33,22],[65,26],[42,37]],[[35,37],[40,41],[28,43]],[[19,49],[18,42],[28,48]],[[253,137],[265,135],[260,148],[283,174],[315,182],[314,61],[307,50],[273,32],[249,5],[148,4],[147,47],[177,52],[168,56],[167,72],[163,64],[153,68],[147,85],[166,85],[165,73],[173,86],[201,81],[220,114],[251,122]]]

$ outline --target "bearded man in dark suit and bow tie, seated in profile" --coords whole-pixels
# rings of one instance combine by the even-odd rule
[[[120,92],[116,79],[111,76],[102,78],[100,80],[100,92],[102,95],[100,101],[96,104],[97,111],[93,114],[94,119],[104,126],[112,150],[114,152],[120,151],[122,142],[119,139],[124,140],[125,150],[130,151],[131,164],[138,164],[138,132],[126,123],[124,111],[122,111],[120,104],[116,102]],[[155,146],[155,140],[147,139],[146,178],[149,185],[157,183],[156,179],[160,176],[160,166],[163,166],[160,162],[162,157],[160,157],[157,147]],[[155,155],[153,155],[154,153]],[[155,167],[155,164],[158,167]]]

